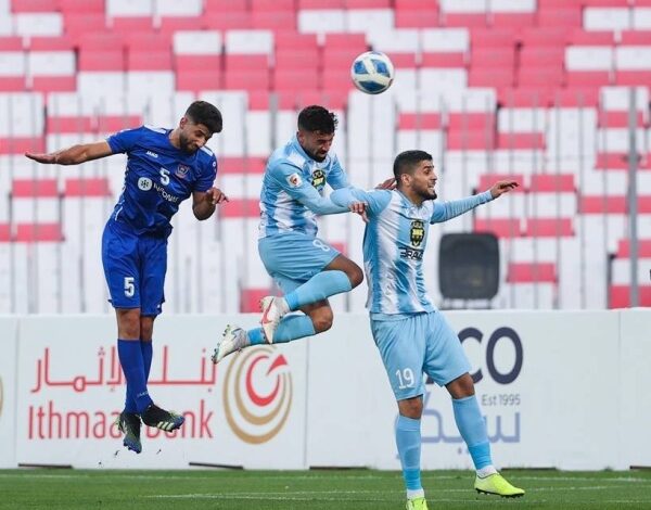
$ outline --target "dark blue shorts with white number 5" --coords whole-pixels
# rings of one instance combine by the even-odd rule
[[[114,308],[140,308],[157,316],[165,303],[167,239],[138,235],[108,221],[102,234],[102,264]]]

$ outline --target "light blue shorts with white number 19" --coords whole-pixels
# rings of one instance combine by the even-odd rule
[[[439,386],[470,372],[459,336],[439,311],[403,317],[371,320],[373,339],[396,400],[424,394],[423,372]]]

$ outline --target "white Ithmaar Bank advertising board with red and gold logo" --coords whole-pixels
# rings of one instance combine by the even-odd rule
[[[218,367],[227,317],[156,321],[150,394],[186,416],[180,431],[143,428],[143,452],[122,447],[124,406],[112,317],[28,317],[21,327],[17,458],[78,468],[305,466],[305,345],[260,346]],[[237,318],[235,318],[237,319]],[[254,326],[254,318],[243,318]]]

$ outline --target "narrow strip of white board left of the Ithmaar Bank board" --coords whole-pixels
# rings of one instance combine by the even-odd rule
[[[0,317],[0,468],[16,467],[16,359],[18,321]]]

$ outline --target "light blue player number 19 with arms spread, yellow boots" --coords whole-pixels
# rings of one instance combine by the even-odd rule
[[[522,496],[493,466],[470,364],[461,343],[424,286],[422,260],[431,224],[447,221],[518,187],[496,182],[468,199],[435,203],[432,156],[407,151],[394,162],[394,191],[340,190],[335,204],[367,204],[363,260],[369,285],[371,331],[398,401],[396,443],[407,487],[407,509],[426,509],[420,477],[423,372],[452,397],[455,420],[476,468],[475,488],[505,497]]]

